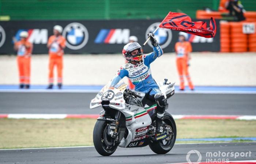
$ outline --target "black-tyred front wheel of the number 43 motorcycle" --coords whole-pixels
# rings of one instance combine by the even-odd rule
[[[118,144],[114,144],[113,138],[108,135],[108,122],[97,120],[93,129],[93,144],[96,151],[102,156],[112,155]]]

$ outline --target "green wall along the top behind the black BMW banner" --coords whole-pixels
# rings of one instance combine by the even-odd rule
[[[248,11],[256,11],[256,1],[241,0]],[[10,20],[95,20],[159,19],[169,11],[192,18],[205,7],[218,10],[219,0],[0,0],[0,16]]]

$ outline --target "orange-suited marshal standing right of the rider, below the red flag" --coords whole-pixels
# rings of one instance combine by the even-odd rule
[[[180,90],[185,89],[184,76],[187,78],[188,86],[191,90],[194,90],[191,78],[188,72],[190,52],[192,52],[192,46],[190,42],[186,41],[186,35],[184,32],[179,33],[179,41],[175,44],[176,51],[176,65],[178,70],[178,75],[180,78]]]

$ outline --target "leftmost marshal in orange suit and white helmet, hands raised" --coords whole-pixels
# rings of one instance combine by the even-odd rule
[[[14,50],[17,51],[17,63],[19,68],[19,88],[29,89],[30,87],[30,62],[33,44],[27,38],[27,31],[20,32],[20,41],[14,39]]]

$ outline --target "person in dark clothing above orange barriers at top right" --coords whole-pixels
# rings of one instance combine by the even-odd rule
[[[238,0],[229,0],[226,3],[226,9],[229,10],[229,15],[234,16],[235,21],[242,21],[245,20],[244,17],[244,9],[242,4],[238,3]]]

